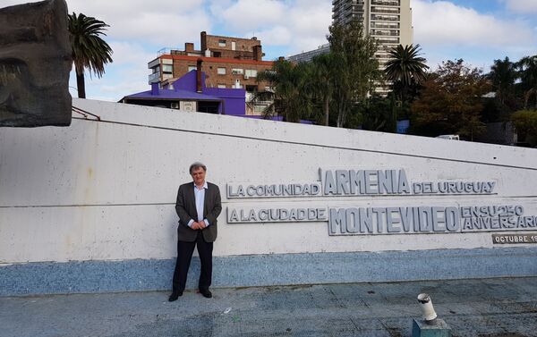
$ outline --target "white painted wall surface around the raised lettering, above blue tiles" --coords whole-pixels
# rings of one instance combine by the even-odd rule
[[[224,211],[216,256],[490,248],[490,232],[328,236],[328,224],[226,223],[226,206],[523,205],[537,150],[74,99],[102,122],[0,129],[0,263],[175,257],[175,195],[202,161]],[[80,116],[81,117],[81,116]],[[314,182],[319,168],[404,168],[409,181],[496,181],[491,196],[226,199],[226,184]]]

